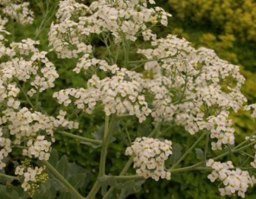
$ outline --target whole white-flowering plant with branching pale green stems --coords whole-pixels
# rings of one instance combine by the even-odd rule
[[[47,51],[37,48],[39,40],[8,41],[8,20],[22,25],[33,22],[29,3],[1,0],[0,4],[0,178],[21,185],[33,197],[51,175],[72,198],[86,199],[125,198],[128,194],[124,192],[113,193],[129,182],[172,180],[173,174],[194,170],[207,172],[209,183],[219,182],[223,196],[245,197],[254,186],[255,131],[237,143],[229,117],[231,111],[244,109],[256,118],[256,104],[246,104],[240,92],[245,78],[237,65],[221,60],[214,50],[194,49],[187,40],[171,34],[158,37],[157,30],[167,26],[171,15],[155,7],[155,1],[99,0],[90,6],[59,1]],[[76,62],[72,73],[82,73],[84,86],[54,89],[59,75],[49,53],[58,62]],[[58,113],[47,113],[41,106],[47,90],[53,91]],[[72,113],[67,111],[69,107]],[[89,117],[96,111],[105,118],[102,139],[76,133],[84,129],[72,115]],[[122,125],[119,120],[126,118],[135,119],[134,129],[147,122],[154,130],[139,132],[129,142],[122,157],[127,164],[115,175],[106,171],[106,164],[111,164],[106,162],[108,148],[113,135],[119,136],[117,123]],[[182,127],[183,134],[197,137],[181,155],[175,147],[179,143],[165,139],[169,132],[165,130],[173,125]],[[52,149],[56,134],[101,148],[99,173],[89,192],[73,186],[56,169],[56,162],[49,161],[56,154]],[[131,133],[125,134],[130,140]],[[119,140],[114,142],[124,146]],[[202,143],[204,149],[195,150]],[[186,158],[194,152],[200,157],[198,162],[186,165]],[[232,154],[248,158],[244,165],[236,165]],[[6,173],[14,160],[12,172],[8,169]],[[134,174],[127,175],[131,165]]]

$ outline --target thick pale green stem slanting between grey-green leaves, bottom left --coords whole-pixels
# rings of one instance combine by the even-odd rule
[[[52,167],[52,165],[49,162],[47,162],[46,160],[42,160],[42,163],[46,165],[47,169],[49,169],[52,175],[54,175],[57,178],[57,180],[59,180],[59,182],[61,182],[62,185],[64,185],[67,188],[67,190],[69,190],[69,192],[74,196],[74,198],[84,199],[84,197],[82,197],[80,193],[78,193],[77,190],[74,187],[72,187],[72,185],[69,182],[67,182],[67,180],[61,174],[59,174],[59,172],[57,172],[57,170],[54,167]]]

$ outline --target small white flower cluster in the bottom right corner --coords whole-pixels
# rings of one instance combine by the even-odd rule
[[[251,177],[249,172],[234,169],[231,161],[221,163],[209,159],[206,165],[213,169],[212,174],[208,175],[210,181],[214,182],[219,179],[224,184],[224,188],[219,188],[222,196],[234,195],[237,192],[240,197],[244,198],[249,185],[253,186],[256,183],[255,177]]]

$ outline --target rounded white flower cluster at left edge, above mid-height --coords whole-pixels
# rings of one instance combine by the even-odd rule
[[[59,75],[46,57],[47,52],[39,52],[34,47],[36,44],[39,42],[24,39],[19,43],[12,42],[11,48],[1,46],[0,58],[7,56],[9,60],[0,63],[0,102],[17,96],[19,88],[15,80],[30,81],[31,89],[27,91],[29,96],[54,87]],[[19,102],[11,99],[8,106],[18,108]]]

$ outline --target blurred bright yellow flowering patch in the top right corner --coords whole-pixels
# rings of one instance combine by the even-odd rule
[[[254,0],[169,0],[175,16],[214,30],[237,35],[242,40],[256,39],[256,2]]]

